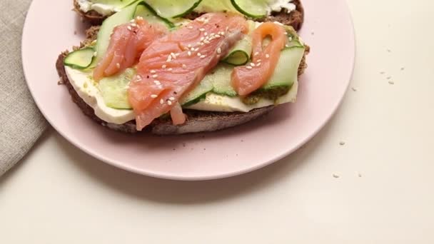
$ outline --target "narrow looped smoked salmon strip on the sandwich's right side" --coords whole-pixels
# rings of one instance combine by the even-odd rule
[[[263,48],[263,40],[271,42]],[[288,38],[282,26],[266,22],[253,31],[252,63],[238,66],[232,72],[232,86],[240,96],[247,96],[261,88],[273,76]]]

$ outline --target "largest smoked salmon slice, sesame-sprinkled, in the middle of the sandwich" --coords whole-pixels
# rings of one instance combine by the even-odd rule
[[[137,130],[168,112],[174,124],[185,122],[179,99],[247,33],[243,16],[212,13],[153,41],[141,54],[128,88]]]

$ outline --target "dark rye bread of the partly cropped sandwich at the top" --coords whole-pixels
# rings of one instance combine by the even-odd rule
[[[293,28],[298,31],[301,29],[304,21],[304,9],[301,4],[301,0],[293,0],[293,4],[296,4],[296,10],[291,11],[291,13],[287,13],[285,9],[282,9],[280,12],[273,12],[271,16],[268,16],[264,19],[257,19],[257,21],[278,21],[287,26],[293,26]],[[89,21],[89,23],[93,26],[99,26],[102,24],[104,19],[107,16],[102,16],[98,12],[91,10],[88,12],[81,11],[79,6],[79,0],[74,0],[74,11],[77,12],[83,19]],[[188,14],[186,18],[188,19],[196,19],[199,15],[197,13],[192,12]]]

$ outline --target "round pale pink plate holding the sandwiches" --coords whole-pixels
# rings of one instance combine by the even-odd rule
[[[101,161],[147,176],[204,180],[235,176],[288,156],[330,119],[353,71],[353,25],[345,0],[303,0],[301,36],[311,46],[295,104],[226,131],[188,136],[131,136],[109,131],[72,103],[54,63],[84,39],[71,1],[34,0],[22,40],[24,73],[34,100],[62,136]],[[47,9],[55,9],[49,11]],[[335,14],[328,14],[335,13]],[[59,18],[59,16],[62,16]],[[79,34],[74,34],[77,31]]]

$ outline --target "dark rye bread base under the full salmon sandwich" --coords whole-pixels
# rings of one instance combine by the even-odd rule
[[[99,26],[92,26],[86,31],[86,40],[82,41],[80,46],[74,46],[74,50],[80,49],[84,46],[88,46],[92,41],[96,40],[99,31]],[[310,48],[306,46],[306,51],[298,67],[298,76],[305,71],[307,68],[306,55],[309,53]],[[136,121],[128,121],[121,125],[114,123],[107,123],[101,120],[95,115],[94,108],[89,106],[76,92],[68,76],[66,75],[64,59],[69,51],[64,51],[59,55],[56,61],[56,69],[59,73],[61,81],[59,83],[64,84],[71,95],[72,101],[79,106],[81,111],[86,116],[89,116],[96,123],[106,126],[115,131],[121,131],[124,133],[136,133]],[[208,112],[208,111],[194,111],[194,110],[184,110],[186,113],[187,121],[181,126],[174,126],[170,118],[157,118],[151,125],[147,126],[143,132],[151,132],[156,135],[177,135],[184,133],[197,133],[206,131],[219,131],[224,128],[230,128],[233,126],[238,126],[248,121],[253,121],[254,119],[266,115],[266,113],[273,110],[275,106],[268,106],[265,108],[258,108],[248,113],[233,112]]]

